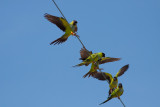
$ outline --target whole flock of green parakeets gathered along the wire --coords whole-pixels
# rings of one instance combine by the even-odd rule
[[[78,36],[76,34],[77,32],[77,21],[73,20],[71,23],[68,23],[66,19],[62,18],[62,17],[57,17],[57,16],[53,16],[50,14],[45,14],[44,17],[50,21],[51,23],[55,24],[57,27],[59,27],[62,31],[65,32],[65,34],[63,36],[61,36],[60,38],[54,40],[53,42],[50,43],[50,45],[52,44],[61,44],[63,42],[65,42],[69,36]],[[107,100],[105,100],[103,103],[106,103],[107,101],[111,100],[112,98],[118,97],[120,98],[120,96],[123,94],[124,90],[123,90],[123,86],[122,83],[118,84],[118,77],[123,75],[125,71],[127,71],[129,65],[125,65],[123,66],[118,73],[113,77],[111,74],[106,73],[106,72],[101,72],[102,69],[99,68],[100,64],[104,64],[104,63],[108,63],[108,62],[114,62],[114,61],[119,61],[120,58],[112,58],[112,57],[105,57],[105,54],[102,52],[99,53],[92,53],[92,51],[88,51],[86,48],[82,48],[80,50],[80,60],[82,60],[82,62],[80,64],[75,65],[74,67],[78,67],[78,66],[88,66],[89,64],[91,64],[91,69],[89,70],[88,73],[86,73],[83,77],[93,77],[96,78],[98,80],[106,80],[109,83],[109,95]],[[100,72],[98,72],[97,70],[100,70]]]

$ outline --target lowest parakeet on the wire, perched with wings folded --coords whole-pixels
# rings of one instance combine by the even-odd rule
[[[112,98],[118,97],[120,98],[120,96],[123,94],[124,90],[123,90],[123,86],[122,83],[119,83],[118,88],[116,88],[111,95],[107,98],[106,101],[102,102],[101,104],[106,103],[107,101],[111,100]],[[99,105],[101,105],[99,104]]]

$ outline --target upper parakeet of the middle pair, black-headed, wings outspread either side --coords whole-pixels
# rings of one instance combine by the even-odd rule
[[[88,51],[85,48],[82,48],[80,50],[80,55],[81,55],[80,59],[83,60],[83,62],[76,66],[82,66],[82,65],[88,66],[91,62],[97,62],[97,61],[99,64],[104,64],[107,62],[114,62],[120,60],[120,58],[105,57],[105,54],[102,52],[93,54],[92,51]]]

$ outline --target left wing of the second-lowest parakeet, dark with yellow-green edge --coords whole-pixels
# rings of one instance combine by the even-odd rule
[[[109,83],[112,80],[112,75],[106,72],[97,72],[93,77],[98,80],[107,80]]]

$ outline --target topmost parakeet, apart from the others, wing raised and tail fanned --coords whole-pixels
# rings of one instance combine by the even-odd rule
[[[73,20],[70,24],[68,24],[68,22],[62,17],[52,16],[47,13],[44,15],[44,17],[65,32],[63,36],[51,42],[50,45],[61,44],[65,42],[70,35],[76,35],[77,29],[78,29],[76,20]]]

